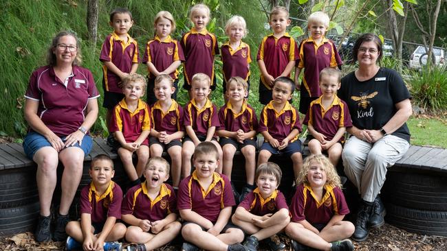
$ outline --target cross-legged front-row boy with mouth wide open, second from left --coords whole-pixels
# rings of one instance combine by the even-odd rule
[[[126,239],[132,251],[155,250],[172,241],[180,232],[173,188],[164,182],[169,178],[169,163],[153,157],[144,170],[146,181],[127,191],[122,203],[122,220],[130,224]]]

